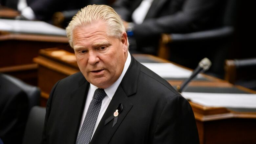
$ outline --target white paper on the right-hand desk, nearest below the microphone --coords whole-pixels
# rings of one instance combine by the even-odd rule
[[[203,106],[256,108],[256,94],[182,92],[181,95]]]

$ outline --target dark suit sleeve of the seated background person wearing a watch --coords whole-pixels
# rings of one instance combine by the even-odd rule
[[[219,5],[219,0],[185,0],[182,9],[174,14],[148,18],[142,24],[135,25],[134,36],[137,39],[161,33],[184,33],[217,25],[214,19]],[[171,5],[169,7],[171,9]]]

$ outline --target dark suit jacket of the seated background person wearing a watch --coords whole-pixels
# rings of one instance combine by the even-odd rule
[[[113,8],[125,21],[132,21],[132,13],[142,0],[117,0]],[[137,49],[157,54],[161,33],[187,33],[218,27],[222,23],[224,6],[220,0],[153,0],[142,24],[135,24]]]

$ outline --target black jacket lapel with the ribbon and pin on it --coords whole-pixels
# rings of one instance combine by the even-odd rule
[[[106,112],[101,118],[90,144],[109,143],[117,128],[133,107],[132,102],[129,100],[129,96],[132,96],[137,91],[139,72],[139,62],[132,56],[131,64],[118,86]],[[118,114],[117,123],[112,127],[114,122],[113,114],[119,104],[122,104],[123,110]]]

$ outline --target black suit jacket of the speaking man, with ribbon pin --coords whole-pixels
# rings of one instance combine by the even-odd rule
[[[75,144],[89,85],[81,72],[55,84],[47,102],[42,143]],[[123,110],[113,126],[113,113],[120,104]],[[194,144],[199,139],[186,99],[132,57],[90,143]]]

